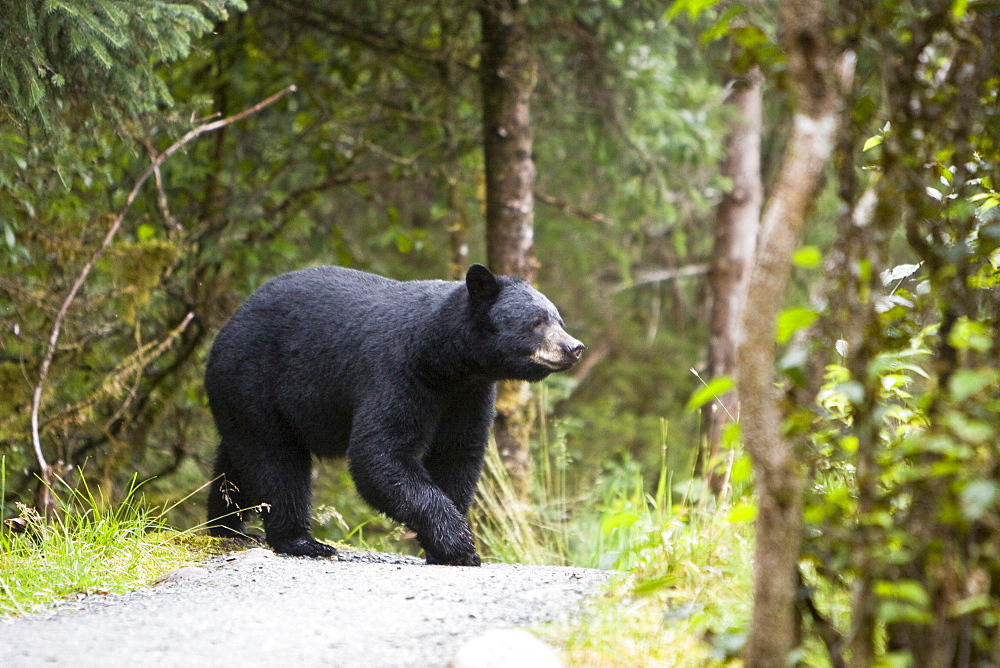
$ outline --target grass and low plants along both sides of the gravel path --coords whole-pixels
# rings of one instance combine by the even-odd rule
[[[665,445],[663,451],[665,461]],[[584,484],[572,479],[565,439],[555,434],[538,444],[536,484],[524,500],[496,450],[490,453],[473,511],[487,561],[619,573],[569,625],[536,629],[564,648],[568,665],[705,666],[739,648],[749,614],[752,508],[734,502],[731,491],[716,499],[701,482],[675,488],[665,465],[647,483],[635,462],[609,464]],[[340,479],[335,465],[324,466],[331,469],[324,475]],[[141,487],[109,503],[85,481],[71,487],[60,480],[55,496],[54,520],[21,505],[0,530],[0,616],[148,586],[220,549],[215,539],[171,528],[171,508],[151,508]],[[328,535],[357,547],[417,553],[404,529],[373,515],[349,483],[337,497],[336,507],[317,508]]]

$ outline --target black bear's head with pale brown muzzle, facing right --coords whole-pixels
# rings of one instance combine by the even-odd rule
[[[527,282],[474,264],[465,284],[487,348],[484,366],[496,380],[537,381],[580,361],[584,345],[563,329],[555,305]]]

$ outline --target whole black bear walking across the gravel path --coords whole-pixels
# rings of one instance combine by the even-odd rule
[[[465,513],[496,381],[541,380],[583,349],[544,295],[482,265],[464,282],[342,267],[279,276],[209,354],[221,437],[210,533],[246,537],[238,511],[261,505],[276,552],[335,555],[310,532],[311,455],[346,455],[358,492],[416,532],[427,563],[477,566]]]

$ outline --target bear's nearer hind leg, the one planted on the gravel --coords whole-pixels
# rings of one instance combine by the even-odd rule
[[[337,550],[312,537],[312,462],[305,450],[287,446],[255,471],[267,543],[275,552],[296,557],[334,557]]]

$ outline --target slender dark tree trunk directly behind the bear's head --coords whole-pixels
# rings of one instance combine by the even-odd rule
[[[494,272],[537,278],[534,250],[535,164],[531,93],[536,65],[528,34],[527,0],[483,0],[483,149],[486,170],[486,254]],[[522,491],[530,476],[532,422],[527,383],[501,383],[494,434],[500,456]]]

